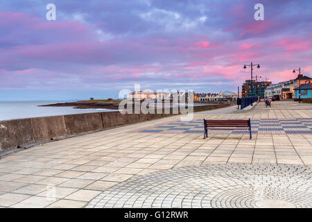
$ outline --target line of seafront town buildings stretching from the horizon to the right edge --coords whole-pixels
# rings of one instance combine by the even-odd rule
[[[194,102],[214,102],[214,101],[236,101],[237,98],[256,97],[259,101],[261,99],[294,99],[298,101],[302,99],[304,102],[312,100],[312,78],[298,74],[297,78],[286,80],[280,83],[272,84],[268,78],[263,80],[261,76],[256,76],[256,79],[245,80],[241,86],[241,92],[223,92],[220,90],[218,93],[193,93]],[[145,89],[144,91],[131,92],[128,99],[132,100],[170,100],[173,98],[173,92],[153,92]]]

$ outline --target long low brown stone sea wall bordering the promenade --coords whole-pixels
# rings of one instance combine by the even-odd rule
[[[232,103],[194,106],[193,112],[214,110],[229,105]],[[162,112],[155,110],[155,114],[121,114],[114,111],[0,121],[0,153],[53,139],[175,115],[172,113],[171,108],[170,114],[165,114],[164,110]]]

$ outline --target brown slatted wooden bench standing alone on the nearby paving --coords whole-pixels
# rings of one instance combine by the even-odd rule
[[[204,119],[204,127],[205,127],[204,139],[208,137],[208,130],[249,130],[250,139],[252,138],[250,119],[248,120]]]

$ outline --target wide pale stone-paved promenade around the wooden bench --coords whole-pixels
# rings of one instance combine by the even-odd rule
[[[0,159],[0,207],[312,207],[312,104],[145,121]],[[202,119],[251,119],[209,131]]]

